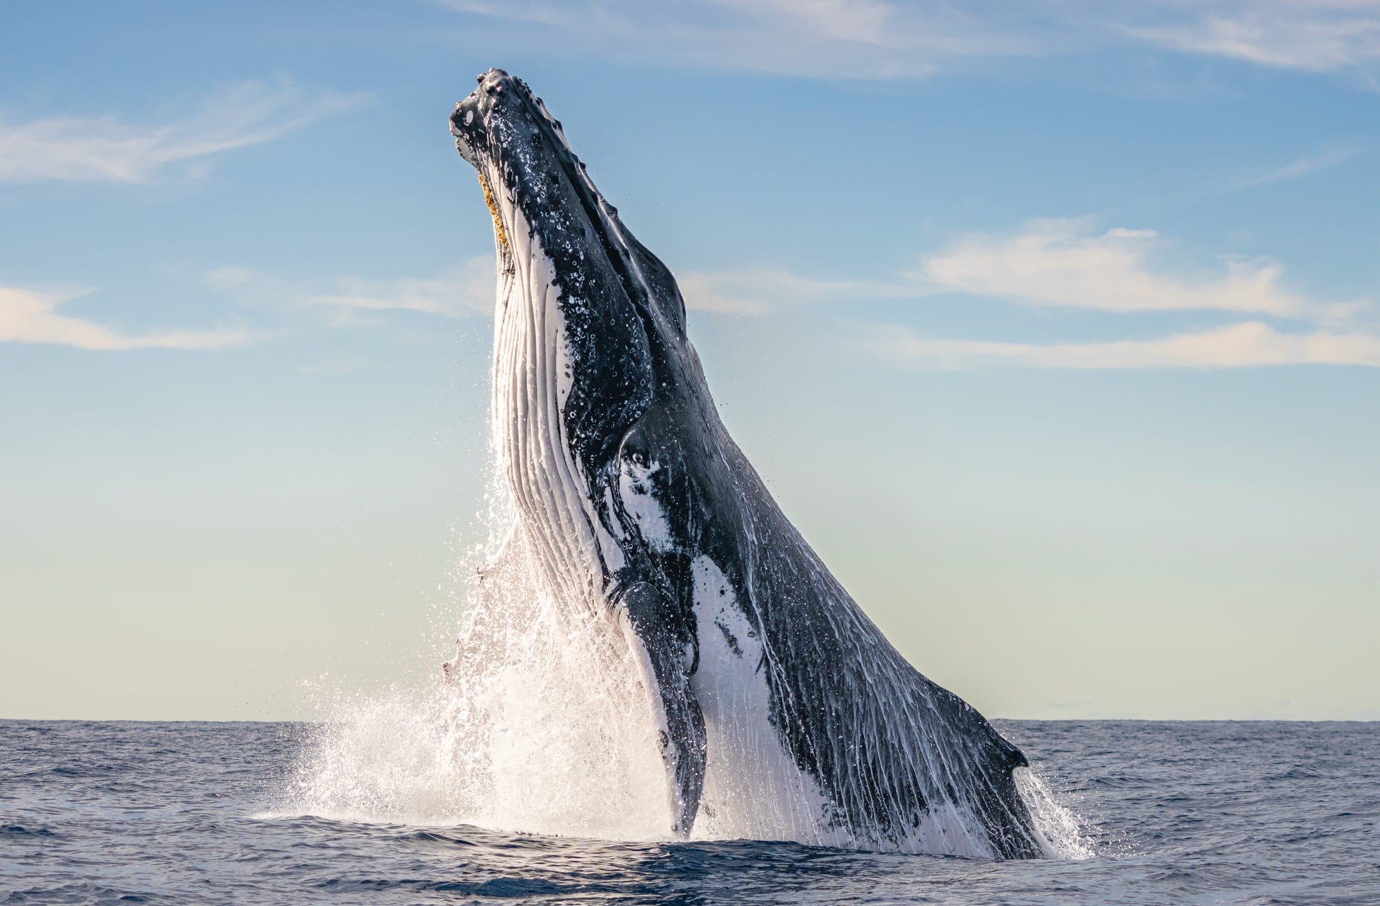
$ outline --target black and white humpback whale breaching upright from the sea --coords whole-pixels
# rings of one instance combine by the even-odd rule
[[[787,801],[740,809],[774,808],[807,841],[1042,855],[1013,776],[1025,757],[911,667],[782,515],[719,420],[675,278],[560,123],[501,69],[450,123],[494,217],[515,530],[537,587],[633,649],[671,831],[724,808],[737,780],[715,776],[731,772]]]

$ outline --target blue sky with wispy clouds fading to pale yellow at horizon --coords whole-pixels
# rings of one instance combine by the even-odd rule
[[[1012,718],[1380,718],[1380,1],[0,6],[0,717],[435,675],[500,66],[726,424]]]

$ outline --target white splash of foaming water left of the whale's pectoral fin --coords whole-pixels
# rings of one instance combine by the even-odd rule
[[[520,532],[469,584],[457,657],[431,688],[337,697],[288,807],[342,820],[667,838],[650,697],[615,623],[555,606]]]

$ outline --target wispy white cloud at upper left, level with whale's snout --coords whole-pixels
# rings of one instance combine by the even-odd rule
[[[259,145],[359,106],[366,95],[247,81],[163,123],[0,119],[0,181],[146,182],[172,164]]]

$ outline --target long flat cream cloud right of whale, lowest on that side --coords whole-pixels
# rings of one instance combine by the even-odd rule
[[[1279,333],[1260,322],[1155,340],[1105,343],[992,343],[927,337],[885,327],[867,348],[893,365],[915,369],[1232,369],[1278,365],[1361,365],[1380,367],[1380,336],[1318,330]]]

